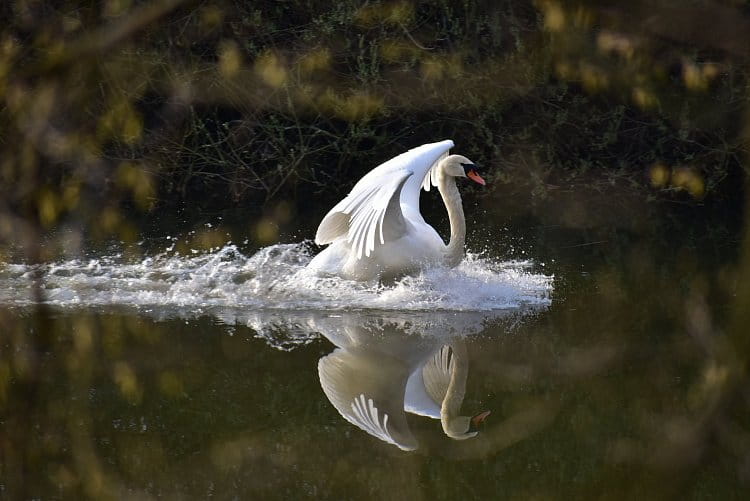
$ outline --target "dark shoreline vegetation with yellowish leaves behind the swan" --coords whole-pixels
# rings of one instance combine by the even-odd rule
[[[519,203],[573,189],[740,213],[750,31],[731,2],[3,10],[6,239],[131,241],[139,214],[180,205],[309,210],[448,137]],[[721,24],[698,29],[708,13]]]

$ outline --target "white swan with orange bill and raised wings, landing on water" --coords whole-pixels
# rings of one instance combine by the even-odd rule
[[[457,177],[484,185],[477,166],[448,155],[453,141],[423,144],[374,168],[323,218],[315,243],[330,244],[308,268],[351,280],[391,279],[430,264],[457,266],[466,222]],[[419,212],[420,188],[437,186],[451,225],[448,245]]]

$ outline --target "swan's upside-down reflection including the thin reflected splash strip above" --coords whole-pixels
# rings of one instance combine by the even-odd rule
[[[319,360],[318,375],[333,407],[361,430],[410,451],[419,444],[407,413],[439,420],[454,440],[477,435],[489,411],[461,413],[469,374],[465,338],[488,322],[515,322],[522,313],[310,313],[264,315],[249,323],[266,335],[286,325],[325,336],[336,349]]]

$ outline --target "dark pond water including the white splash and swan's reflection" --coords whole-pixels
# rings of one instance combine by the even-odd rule
[[[50,499],[744,498],[715,246],[534,232],[389,286],[306,243],[5,264],[8,464]]]

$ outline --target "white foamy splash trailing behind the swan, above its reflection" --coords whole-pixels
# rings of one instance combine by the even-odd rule
[[[59,307],[214,308],[242,310],[491,311],[550,302],[552,277],[528,261],[468,255],[454,269],[435,268],[393,286],[318,277],[305,269],[306,244],[279,244],[246,256],[235,245],[191,256],[121,255],[42,265],[0,265],[0,304],[34,304],[32,281]]]

